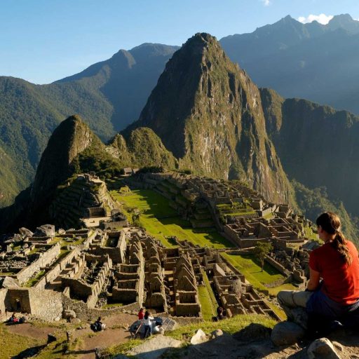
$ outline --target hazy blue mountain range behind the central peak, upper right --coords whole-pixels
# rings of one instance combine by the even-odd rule
[[[220,43],[258,86],[359,114],[359,21],[350,15],[327,25],[288,15]]]

